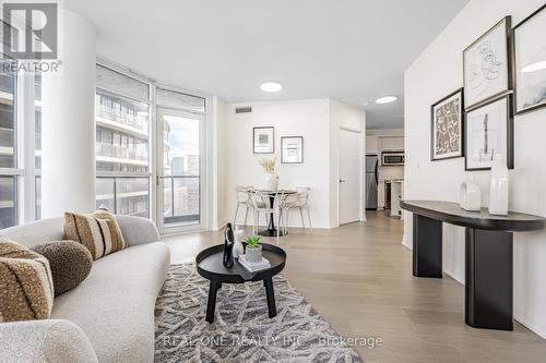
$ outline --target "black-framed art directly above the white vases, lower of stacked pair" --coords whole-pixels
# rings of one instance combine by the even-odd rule
[[[466,170],[487,170],[497,156],[513,169],[513,113],[511,95],[490,100],[466,112]]]

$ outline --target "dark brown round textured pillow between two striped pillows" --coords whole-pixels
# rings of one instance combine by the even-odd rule
[[[93,266],[90,251],[74,241],[37,244],[32,250],[49,261],[56,297],[79,286]]]

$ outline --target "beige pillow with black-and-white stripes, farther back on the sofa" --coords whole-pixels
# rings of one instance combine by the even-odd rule
[[[93,259],[127,247],[116,217],[106,210],[92,215],[64,213],[64,234],[67,240],[86,246]]]

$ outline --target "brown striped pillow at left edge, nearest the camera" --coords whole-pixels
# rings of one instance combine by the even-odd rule
[[[0,322],[49,318],[52,281],[46,257],[0,237]]]

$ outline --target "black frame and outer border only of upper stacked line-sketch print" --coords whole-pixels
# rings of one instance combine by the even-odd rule
[[[505,24],[505,37],[506,37],[506,58],[507,58],[507,87],[505,89],[501,89],[495,94],[488,95],[482,99],[478,99],[474,102],[471,102],[471,98],[466,94],[468,90],[468,85],[466,82],[466,70],[467,70],[467,64],[465,62],[465,55],[468,50],[471,50],[476,44],[478,44],[480,40],[483,40],[489,33],[491,33],[494,29],[496,29],[499,25]],[[512,27],[512,16],[507,15],[502,17],[499,22],[497,22],[494,26],[491,26],[486,33],[484,33],[479,38],[474,40],[468,47],[466,47],[463,50],[463,88],[464,88],[464,99],[465,99],[465,111],[471,111],[472,109],[478,108],[480,106],[484,106],[485,104],[488,104],[490,100],[498,99],[501,96],[511,93],[512,86],[513,86],[513,73],[512,73],[512,38],[511,38],[511,27]]]

